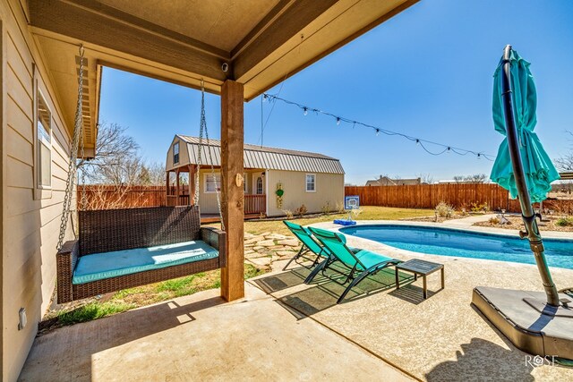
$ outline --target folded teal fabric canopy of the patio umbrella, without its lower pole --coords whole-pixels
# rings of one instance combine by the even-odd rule
[[[535,203],[547,198],[547,192],[551,191],[552,188],[551,183],[559,179],[560,176],[534,132],[537,123],[535,115],[537,94],[534,77],[529,71],[529,63],[517,55],[515,50],[511,50],[509,63],[511,65],[510,79],[513,85],[511,98],[517,137],[519,138],[519,152],[523,161],[527,190],[531,196],[531,201]],[[493,123],[496,131],[506,135],[503,101],[501,99],[502,67],[503,58],[493,75]],[[517,198],[517,186],[509,156],[507,137],[500,144],[490,178],[508,190],[511,198]]]

